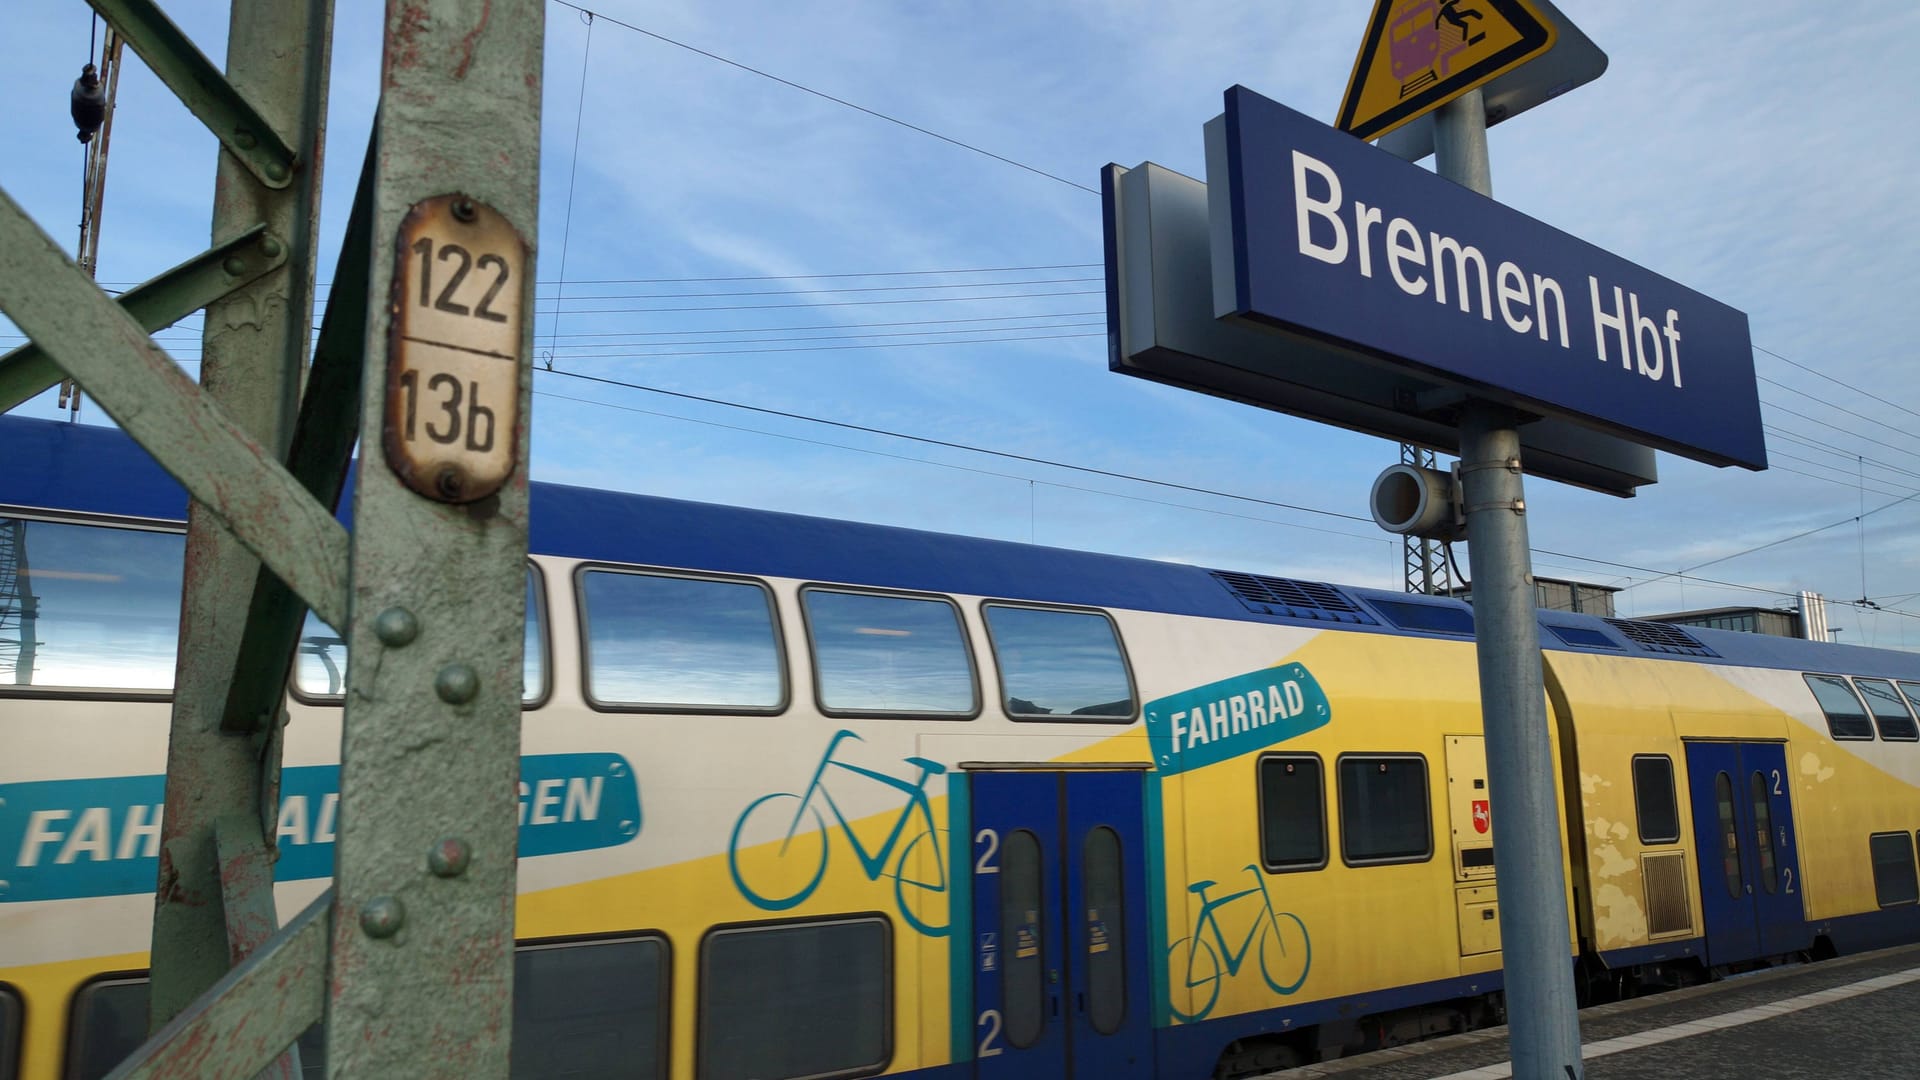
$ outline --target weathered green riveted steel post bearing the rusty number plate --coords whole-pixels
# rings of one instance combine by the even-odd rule
[[[390,0],[328,1076],[507,1078],[541,0]]]

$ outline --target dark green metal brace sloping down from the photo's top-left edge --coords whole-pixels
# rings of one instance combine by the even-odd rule
[[[159,81],[269,188],[294,179],[294,148],[152,0],[86,0]]]

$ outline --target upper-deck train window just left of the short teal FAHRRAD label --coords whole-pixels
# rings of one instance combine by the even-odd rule
[[[1131,721],[1133,680],[1098,611],[987,603],[1000,703],[1016,721]]]

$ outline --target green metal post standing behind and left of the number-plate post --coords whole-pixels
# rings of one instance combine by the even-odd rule
[[[292,436],[313,325],[330,40],[332,0],[232,6],[227,77],[294,148],[296,167],[290,183],[275,188],[230,150],[219,152],[213,240],[219,244],[265,225],[261,244],[280,248],[273,254],[284,259],[207,306],[200,382],[275,457],[284,457]],[[244,133],[236,138],[261,142],[271,136]],[[230,261],[244,259],[230,256]],[[225,517],[200,502],[188,509],[154,907],[150,1030],[159,1030],[246,959],[276,924],[271,851],[280,788],[280,709],[255,717],[252,732],[221,730],[227,684],[259,571],[259,561],[223,525]]]

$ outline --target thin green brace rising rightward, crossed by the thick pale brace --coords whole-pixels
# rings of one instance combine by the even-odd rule
[[[207,304],[286,261],[286,244],[265,225],[215,244],[167,273],[121,294],[119,304],[148,332],[165,331]],[[0,356],[0,413],[63,379],[46,350],[29,342]]]

